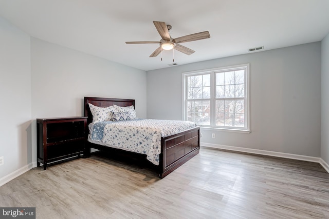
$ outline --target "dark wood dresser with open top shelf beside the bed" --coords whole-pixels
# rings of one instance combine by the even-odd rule
[[[80,157],[86,145],[87,117],[37,118],[37,165]]]

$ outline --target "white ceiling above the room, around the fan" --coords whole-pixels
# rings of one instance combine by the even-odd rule
[[[159,41],[153,21],[172,25],[173,38],[208,30],[182,43],[178,65],[321,41],[329,32],[329,0],[0,0],[0,16],[29,35],[145,71],[170,67],[173,52],[150,58]]]

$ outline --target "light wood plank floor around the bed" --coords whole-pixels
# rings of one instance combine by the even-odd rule
[[[36,218],[329,218],[320,164],[209,148],[162,180],[93,155],[34,168],[0,194]]]

